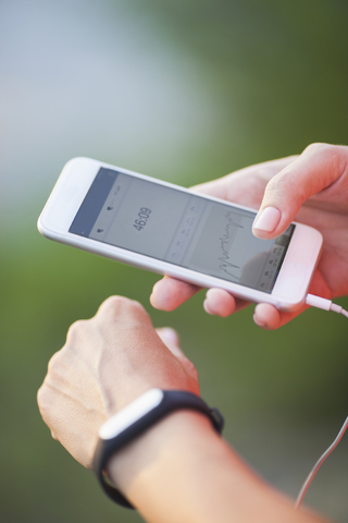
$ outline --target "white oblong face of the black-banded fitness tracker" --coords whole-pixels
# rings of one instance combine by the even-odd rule
[[[161,389],[150,389],[108,419],[99,429],[101,439],[112,439],[148,414],[163,400]]]

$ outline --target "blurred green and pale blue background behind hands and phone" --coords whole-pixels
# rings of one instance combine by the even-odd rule
[[[140,522],[50,438],[36,391],[71,323],[111,294],[181,332],[226,438],[296,496],[347,415],[344,317],[276,332],[252,307],[220,319],[202,295],[170,314],[158,277],[41,238],[36,219],[74,156],[189,186],[348,143],[346,0],[0,0],[0,520]],[[347,299],[338,303],[348,307]],[[348,439],[307,502],[348,520]]]

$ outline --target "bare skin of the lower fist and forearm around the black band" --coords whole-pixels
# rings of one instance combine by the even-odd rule
[[[74,324],[38,391],[55,439],[91,467],[100,425],[146,390],[199,394],[197,372],[172,329],[158,331],[137,302],[113,296]],[[196,412],[176,412],[117,452],[109,474],[151,523],[314,523],[264,483]]]

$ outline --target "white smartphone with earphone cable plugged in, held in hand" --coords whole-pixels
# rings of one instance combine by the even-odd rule
[[[293,223],[251,233],[256,210],[89,158],[64,167],[40,217],[47,238],[119,262],[221,288],[278,309],[300,307],[322,235]]]

